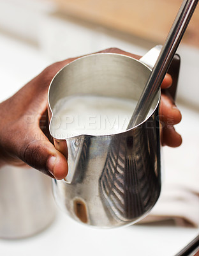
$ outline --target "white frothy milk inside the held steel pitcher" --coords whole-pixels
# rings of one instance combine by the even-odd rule
[[[109,135],[126,131],[136,101],[94,95],[65,97],[55,104],[51,121],[54,138],[81,134]]]

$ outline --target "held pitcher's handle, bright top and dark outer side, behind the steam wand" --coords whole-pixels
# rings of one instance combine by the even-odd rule
[[[147,65],[149,68],[153,68],[156,60],[158,59],[159,52],[161,51],[162,45],[156,45],[151,50],[149,50],[142,58],[140,58],[140,62]],[[176,92],[177,92],[177,83],[179,79],[179,71],[181,65],[181,57],[179,54],[175,54],[172,60],[170,67],[168,68],[168,74],[172,76],[173,83],[172,86],[168,89],[164,89],[163,92],[169,93],[173,100],[175,101]]]

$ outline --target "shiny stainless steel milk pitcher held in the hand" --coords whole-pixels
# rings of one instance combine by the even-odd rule
[[[48,90],[51,134],[54,106],[63,97],[138,100],[160,49],[154,47],[140,60],[107,52],[91,54],[62,68]],[[159,100],[160,91],[151,115],[128,131],[54,137],[69,166],[66,179],[53,180],[54,197],[71,218],[96,227],[119,227],[144,218],[156,204],[161,191]]]

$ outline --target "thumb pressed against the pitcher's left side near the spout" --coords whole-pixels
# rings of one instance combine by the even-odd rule
[[[26,135],[20,159],[55,179],[64,179],[68,173],[66,157],[55,149],[40,128],[35,127],[34,134],[29,132]]]

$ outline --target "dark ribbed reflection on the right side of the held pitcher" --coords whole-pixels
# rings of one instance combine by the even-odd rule
[[[103,204],[120,221],[139,218],[159,196],[156,192],[160,189],[156,144],[159,138],[154,133],[158,124],[154,118],[147,123],[148,129],[140,127],[131,136],[112,140],[99,179]]]

